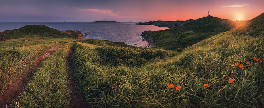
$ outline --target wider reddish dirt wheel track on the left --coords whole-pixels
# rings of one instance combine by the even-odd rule
[[[60,46],[63,46],[63,44],[51,47],[47,53],[37,58],[36,62],[32,64],[28,69],[22,71],[22,75],[20,75],[18,79],[16,79],[12,84],[9,84],[7,86],[7,89],[1,90],[0,108],[5,108],[6,105],[11,106],[13,100],[15,100],[16,102],[19,101],[18,96],[23,93],[27,79],[33,75],[33,72],[36,71],[41,62]]]

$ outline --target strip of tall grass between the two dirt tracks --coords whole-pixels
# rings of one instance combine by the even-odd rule
[[[69,44],[58,48],[34,73],[20,98],[22,107],[66,107],[68,94],[67,67],[64,59]]]

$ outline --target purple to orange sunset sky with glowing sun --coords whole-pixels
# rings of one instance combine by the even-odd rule
[[[264,0],[0,0],[0,22],[250,20]]]

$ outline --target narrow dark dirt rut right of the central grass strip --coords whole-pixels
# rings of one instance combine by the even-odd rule
[[[89,106],[83,100],[83,96],[76,89],[77,88],[77,80],[74,77],[74,73],[72,70],[72,63],[70,62],[70,57],[73,54],[74,45],[70,48],[68,55],[66,56],[67,66],[69,67],[69,74],[67,75],[68,84],[67,86],[70,88],[70,105],[68,108],[89,108]]]

